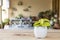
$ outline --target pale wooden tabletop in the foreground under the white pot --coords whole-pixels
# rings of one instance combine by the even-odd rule
[[[36,39],[33,30],[0,29],[0,40],[60,40],[60,30],[48,30],[46,38]]]

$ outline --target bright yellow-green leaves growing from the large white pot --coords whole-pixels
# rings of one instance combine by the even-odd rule
[[[40,19],[34,23],[34,27],[50,27],[50,22],[48,19]]]

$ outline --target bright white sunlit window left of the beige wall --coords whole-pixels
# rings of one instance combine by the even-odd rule
[[[3,0],[2,5],[2,21],[8,18],[8,8],[9,8],[9,0]]]

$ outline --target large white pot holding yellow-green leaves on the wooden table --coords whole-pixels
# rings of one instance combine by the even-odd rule
[[[34,35],[36,38],[45,38],[47,36],[47,27],[34,27]]]

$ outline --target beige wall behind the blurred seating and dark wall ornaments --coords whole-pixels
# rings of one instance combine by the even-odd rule
[[[24,16],[37,16],[40,11],[52,9],[52,0],[21,0],[22,6],[18,6],[19,0],[11,0],[10,7],[15,7],[17,11],[14,11],[15,16],[23,14]],[[29,12],[23,11],[28,6],[32,6]],[[11,16],[12,9],[9,9],[9,16]]]

